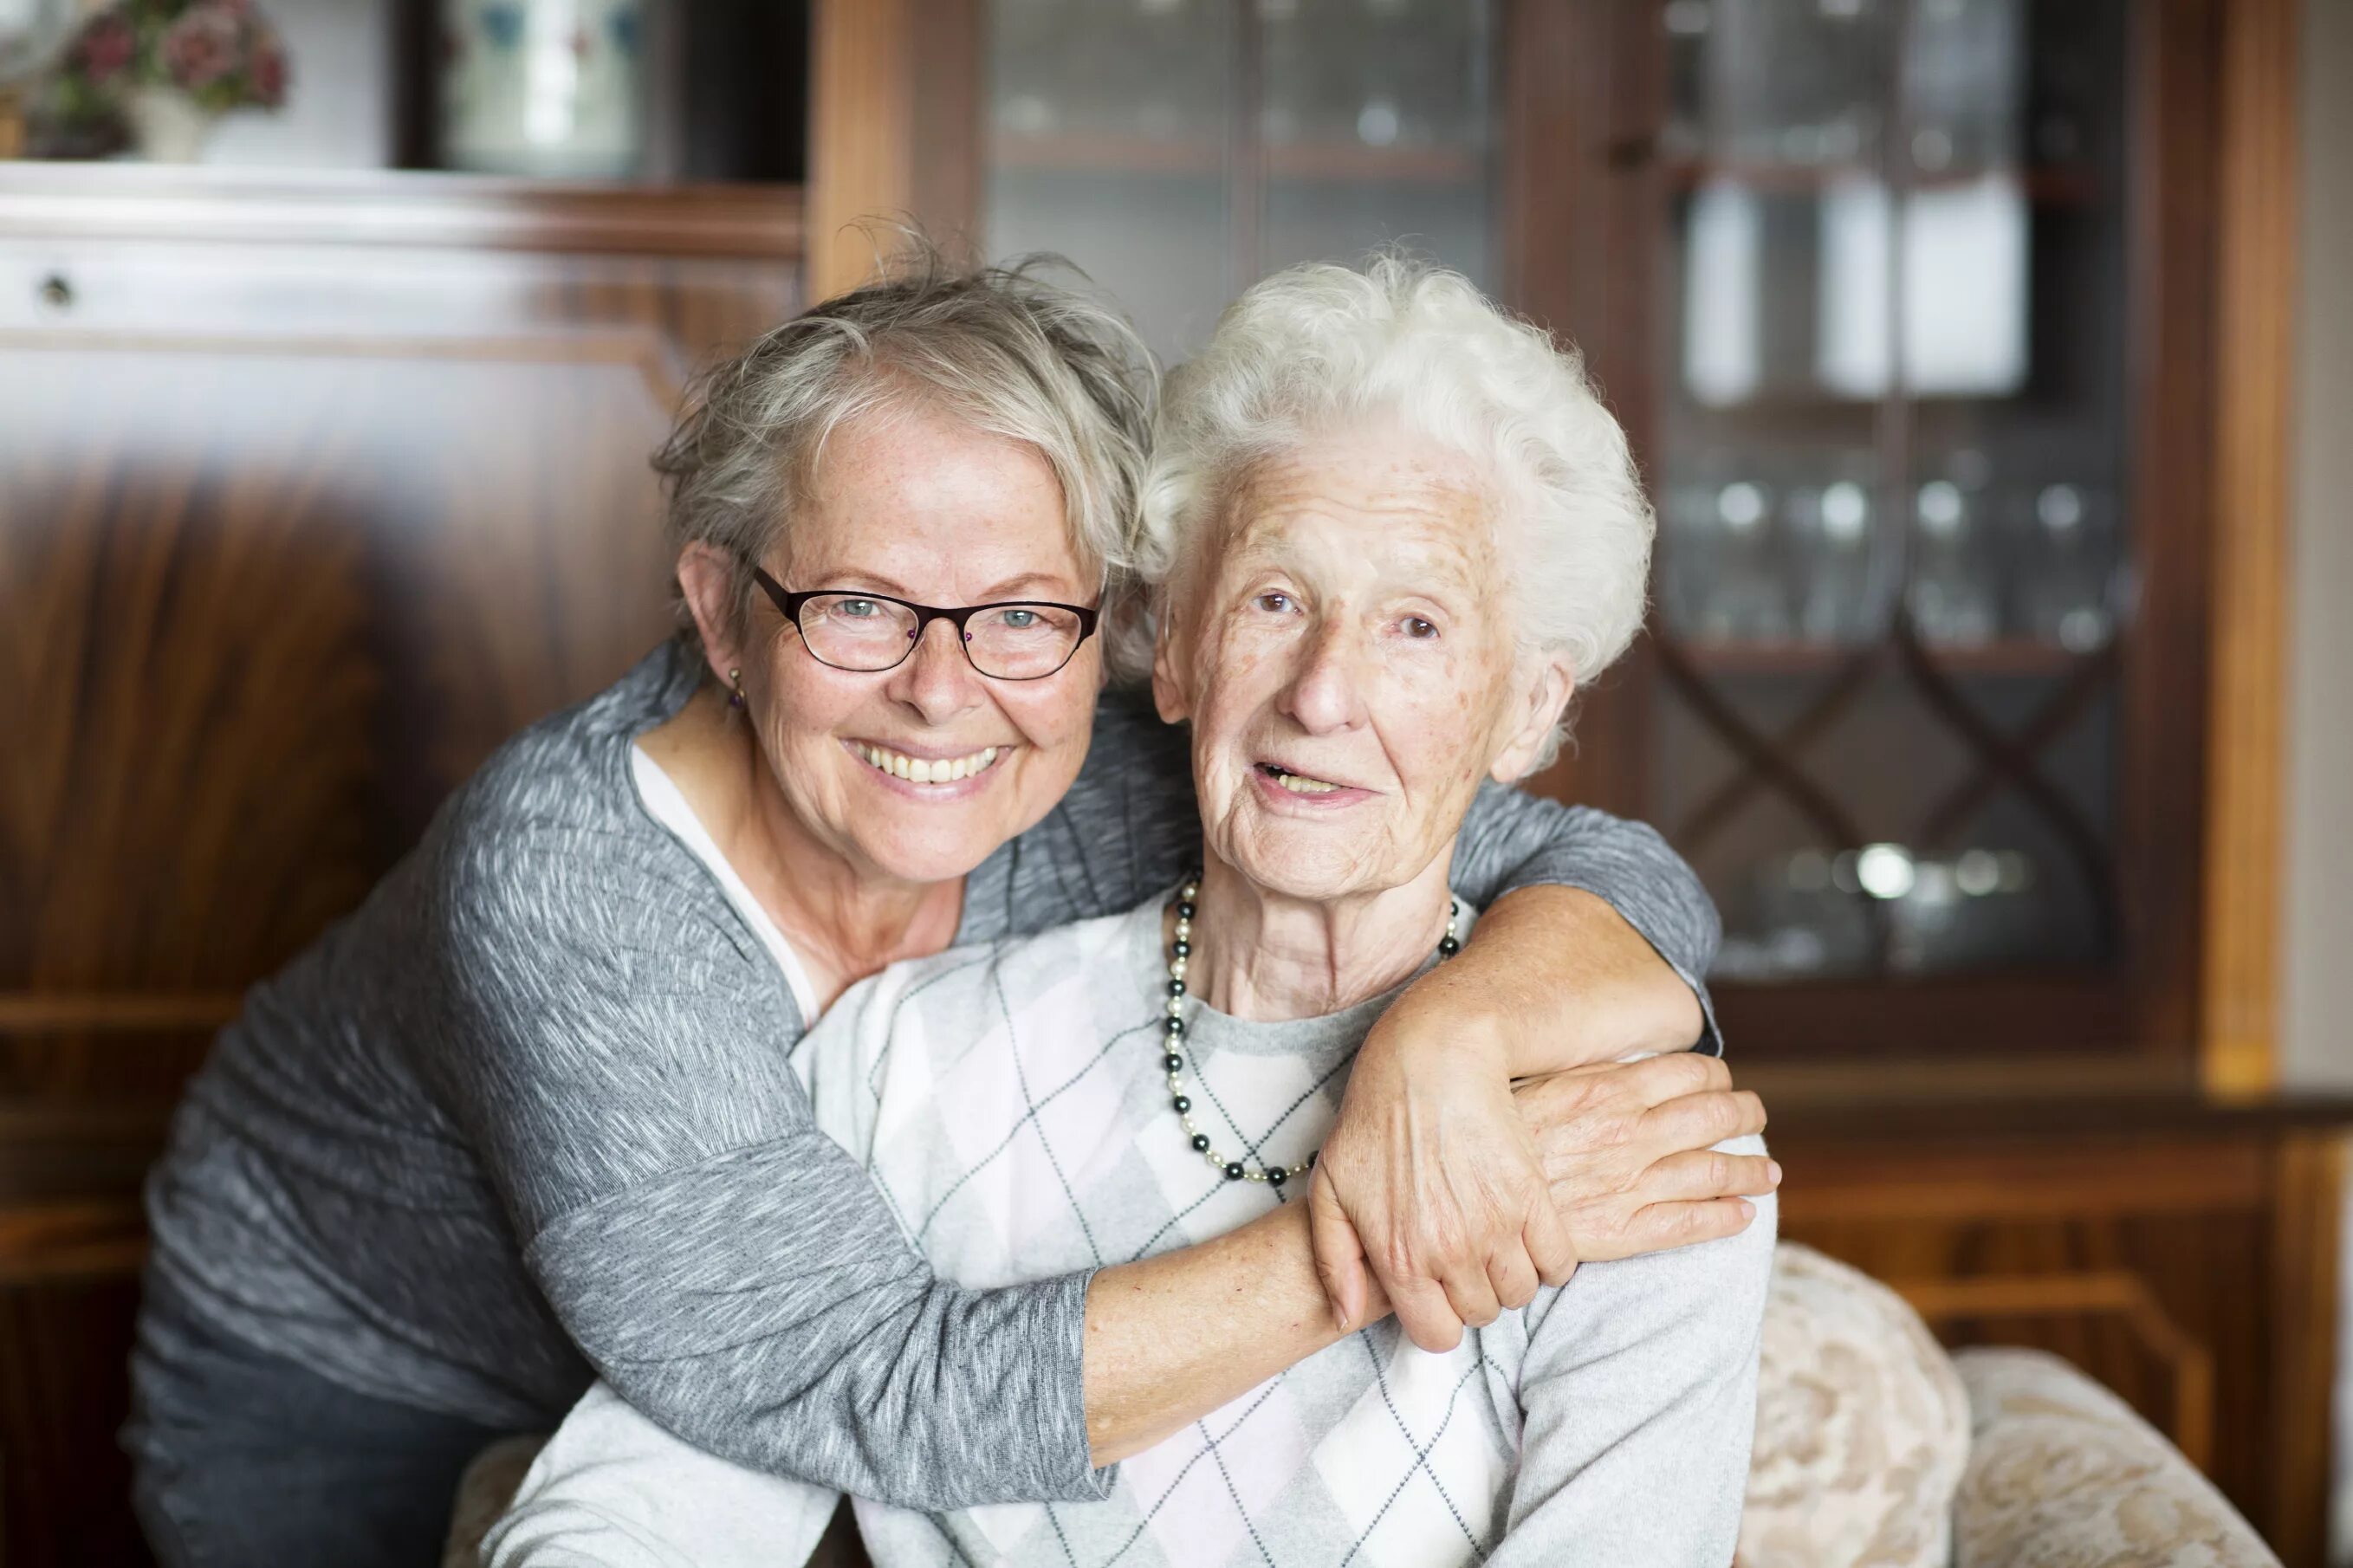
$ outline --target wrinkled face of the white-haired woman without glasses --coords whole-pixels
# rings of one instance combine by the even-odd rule
[[[1482,777],[1527,770],[1567,666],[1515,645],[1492,511],[1468,459],[1379,428],[1242,476],[1153,669],[1212,855],[1289,897],[1381,892],[1452,855]]]

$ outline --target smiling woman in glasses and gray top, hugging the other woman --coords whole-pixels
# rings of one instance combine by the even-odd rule
[[[706,384],[659,459],[687,636],[504,746],[188,1090],[125,1434],[165,1563],[426,1561],[466,1460],[595,1373],[713,1453],[908,1507],[1096,1497],[1334,1333],[1297,1210],[944,1281],[788,1064],[887,963],[1125,911],[1193,855],[1181,746],[1099,706],[1151,396],[1106,308],[936,264]],[[1313,1234],[1344,1309],[1369,1257],[1433,1344],[1577,1227],[1739,1224],[1725,1184],[1645,1205],[1706,1140],[1624,1114],[1737,1114],[1713,1062],[1527,1118],[1508,1088],[1713,1048],[1687,869],[1489,791],[1454,876],[1499,904],[1374,1029]],[[1539,1137],[1574,1149],[1567,1215]]]

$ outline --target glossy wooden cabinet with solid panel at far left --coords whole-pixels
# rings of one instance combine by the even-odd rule
[[[136,1561],[136,1182],[247,984],[668,629],[791,188],[0,165],[0,1559]]]

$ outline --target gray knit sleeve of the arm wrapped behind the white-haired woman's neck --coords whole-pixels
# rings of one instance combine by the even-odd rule
[[[1132,692],[1096,704],[1094,746],[1061,805],[998,850],[965,892],[960,942],[1031,935],[1134,909],[1200,857],[1200,805],[1186,730]],[[1640,822],[1487,784],[1464,817],[1454,888],[1487,906],[1515,888],[1584,888],[1617,909],[1692,994],[1722,1055],[1706,972],[1720,925],[1708,890]]]

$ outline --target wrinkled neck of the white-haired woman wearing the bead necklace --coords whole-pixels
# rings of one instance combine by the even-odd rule
[[[1282,1022],[1353,1008],[1405,984],[1447,930],[1447,864],[1332,902],[1294,899],[1207,859],[1188,984],[1231,1017]]]

